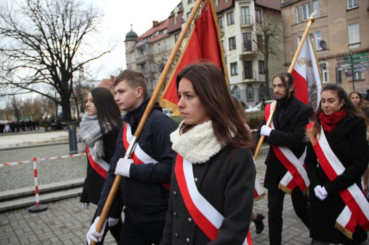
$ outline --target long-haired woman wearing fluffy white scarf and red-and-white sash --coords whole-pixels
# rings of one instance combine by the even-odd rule
[[[254,141],[244,114],[213,63],[184,68],[177,90],[184,120],[171,134],[177,155],[161,245],[250,242]]]

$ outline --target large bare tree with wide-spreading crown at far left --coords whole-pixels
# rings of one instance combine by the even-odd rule
[[[3,3],[0,6],[2,93],[41,94],[61,105],[63,121],[70,121],[73,77],[85,64],[111,51],[96,54],[91,45],[102,17],[92,5],[83,5],[78,0]],[[51,90],[56,93],[50,93]]]

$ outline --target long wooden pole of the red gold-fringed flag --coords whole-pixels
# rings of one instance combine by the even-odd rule
[[[200,8],[200,5],[203,1],[204,0],[197,0],[195,5],[193,6],[192,11],[191,11],[190,15],[188,16],[188,19],[187,19],[186,23],[184,24],[184,27],[181,31],[181,34],[178,37],[178,40],[177,40],[176,44],[174,45],[174,48],[173,48],[171,54],[169,55],[168,61],[165,64],[163,72],[161,73],[161,75],[159,77],[159,81],[157,82],[157,84],[155,86],[154,92],[151,95],[150,101],[149,101],[148,105],[146,106],[144,114],[141,117],[140,123],[138,124],[138,127],[137,127],[137,129],[136,129],[136,131],[133,135],[133,138],[132,138],[132,140],[129,144],[129,147],[128,147],[127,151],[125,152],[124,159],[129,159],[130,158],[130,156],[132,154],[133,146],[136,144],[138,138],[141,135],[142,129],[144,128],[145,123],[146,123],[147,119],[149,118],[149,115],[150,115],[150,113],[151,113],[151,111],[154,107],[155,101],[156,101],[157,97],[159,96],[159,92],[161,90],[162,85],[164,84],[165,78],[168,76],[170,68],[172,67],[173,62],[176,58],[176,55],[177,55],[178,51],[180,50],[180,47],[182,45],[182,42],[184,41],[184,38],[187,34],[187,31],[191,27],[191,23],[195,19],[197,10]],[[122,180],[122,176],[121,175],[116,175],[113,186],[112,186],[112,188],[109,192],[109,195],[106,199],[104,208],[102,209],[102,212],[100,214],[99,221],[96,225],[96,231],[98,233],[101,232],[102,226],[104,225],[104,221],[108,217],[110,208],[112,206],[114,197],[115,197],[115,195],[118,191],[121,180]],[[92,241],[91,244],[94,245],[95,242]]]

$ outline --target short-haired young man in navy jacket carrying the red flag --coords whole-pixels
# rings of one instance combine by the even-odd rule
[[[110,169],[98,204],[101,214],[116,174],[122,175],[117,195],[123,203],[113,203],[112,209],[124,205],[124,221],[121,243],[147,245],[160,243],[168,208],[169,183],[174,151],[169,135],[177,124],[155,104],[138,139],[132,159],[124,159],[131,137],[150,100],[144,76],[136,71],[125,70],[115,80],[115,100],[120,109],[127,111],[125,125],[119,133],[116,152],[110,161]],[[99,217],[98,217],[99,218]],[[94,236],[98,218],[90,227],[87,240],[97,241]]]

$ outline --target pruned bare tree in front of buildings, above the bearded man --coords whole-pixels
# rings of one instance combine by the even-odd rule
[[[252,41],[257,45],[258,50],[264,55],[265,88],[266,96],[270,97],[269,92],[269,54],[276,55],[281,52],[279,45],[283,42],[281,20],[276,18],[273,12],[264,12],[261,23],[256,25],[254,32],[256,39]]]

